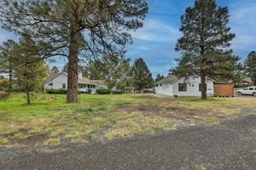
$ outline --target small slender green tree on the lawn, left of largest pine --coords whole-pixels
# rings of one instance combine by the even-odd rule
[[[22,37],[19,46],[16,77],[19,77],[20,86],[26,91],[27,105],[31,105],[31,93],[39,92],[46,77],[47,67],[40,58],[39,48],[30,37]]]

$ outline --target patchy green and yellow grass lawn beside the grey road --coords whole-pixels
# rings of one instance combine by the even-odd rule
[[[226,117],[241,116],[244,109],[253,110],[256,105],[256,99],[157,99],[146,94],[81,94],[80,98],[79,104],[67,104],[65,95],[38,94],[32,105],[26,105],[25,94],[13,94],[0,101],[0,144],[105,141],[216,124]]]

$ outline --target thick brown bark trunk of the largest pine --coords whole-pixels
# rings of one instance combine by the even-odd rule
[[[79,72],[79,33],[76,26],[72,26],[69,42],[67,68],[67,103],[78,103],[78,72]]]

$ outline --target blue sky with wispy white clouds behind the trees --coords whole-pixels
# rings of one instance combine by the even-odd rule
[[[217,0],[217,3],[230,9],[230,27],[236,33],[232,48],[242,62],[250,51],[256,50],[256,0]],[[166,75],[179,56],[174,48],[181,36],[180,16],[193,4],[194,0],[148,0],[149,12],[144,26],[132,33],[133,44],[127,47],[126,57],[133,60],[142,57],[154,76]],[[0,42],[8,38],[17,40],[14,35],[0,30]],[[65,62],[57,59],[50,65],[61,68]]]

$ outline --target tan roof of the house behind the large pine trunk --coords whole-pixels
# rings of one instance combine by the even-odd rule
[[[47,77],[45,83],[55,79],[55,77],[58,77],[60,76],[61,74],[67,76],[67,73],[66,72],[60,72],[60,73],[51,73],[49,75],[49,77]],[[104,80],[90,80],[89,78],[87,77],[82,77],[82,78],[79,78],[79,83],[80,84],[98,84],[98,85],[105,85],[106,82]]]

